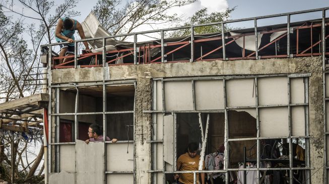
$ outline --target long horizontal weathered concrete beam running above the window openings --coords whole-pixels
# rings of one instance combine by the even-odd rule
[[[201,61],[193,63],[165,63],[121,65],[106,67],[111,80],[207,76],[207,75],[242,75],[242,74],[273,74],[293,73],[298,59],[260,59],[235,61]],[[107,71],[106,71],[107,73]],[[106,75],[107,76],[107,75]],[[102,81],[102,67],[67,68],[52,70],[52,83]]]

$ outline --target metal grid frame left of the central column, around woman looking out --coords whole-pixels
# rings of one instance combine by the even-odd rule
[[[48,70],[49,71],[49,70]],[[105,77],[105,76],[104,76]],[[51,75],[50,79],[48,81],[51,81]],[[79,88],[80,87],[86,87],[86,86],[99,86],[102,85],[103,87],[103,97],[102,97],[102,112],[88,112],[88,113],[79,113],[78,112],[78,107],[79,107]],[[108,86],[119,86],[119,85],[133,85],[134,86],[134,109],[131,111],[106,111],[106,87]],[[64,87],[75,87],[77,89],[77,94],[76,94],[76,100],[75,100],[75,112],[74,113],[59,113],[59,91],[61,88]],[[50,172],[60,172],[60,154],[59,154],[59,148],[61,145],[75,145],[78,139],[78,125],[79,125],[79,120],[78,116],[80,115],[103,115],[103,135],[106,135],[106,115],[107,114],[122,114],[122,113],[131,113],[133,114],[133,139],[129,141],[120,141],[118,140],[115,144],[124,144],[124,143],[133,143],[133,150],[134,150],[134,159],[133,159],[133,170],[131,171],[109,171],[107,170],[107,164],[106,164],[106,147],[108,144],[112,144],[112,141],[106,141],[106,136],[104,136],[104,178],[105,178],[105,183],[107,182],[107,175],[112,174],[112,173],[119,173],[119,174],[133,174],[134,177],[134,183],[136,182],[136,160],[135,160],[135,155],[136,155],[136,150],[135,150],[135,103],[136,103],[136,80],[117,80],[117,81],[100,81],[100,82],[81,82],[81,83],[61,83],[61,84],[54,84],[54,85],[49,85],[49,107],[48,109],[51,109],[52,112],[54,113],[49,113],[48,118],[49,122],[51,124],[55,124],[55,130],[52,130],[53,127],[49,126],[48,133],[49,135],[52,135],[52,131],[54,131],[54,137],[51,136],[49,138],[49,146],[48,146],[48,167],[50,168]],[[52,99],[51,96],[53,96],[54,103],[52,105]],[[57,124],[59,123],[60,116],[74,116],[74,140],[72,142],[59,142],[59,126]],[[51,162],[52,157],[55,158],[54,162]]]

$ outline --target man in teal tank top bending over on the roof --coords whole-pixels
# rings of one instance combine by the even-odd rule
[[[60,44],[59,57],[74,55],[74,33],[78,30],[81,39],[85,39],[85,33],[82,25],[74,19],[68,17],[60,18],[57,21],[55,29],[55,39],[57,42],[69,42]],[[86,47],[86,52],[90,53],[90,49],[87,42],[83,42]],[[72,58],[59,59],[59,63],[67,62]]]

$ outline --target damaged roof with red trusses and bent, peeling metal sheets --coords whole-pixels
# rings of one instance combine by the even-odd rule
[[[299,12],[296,14],[298,13]],[[272,17],[275,17],[275,15]],[[259,17],[259,19],[263,19],[263,17]],[[238,21],[241,20],[232,20],[228,23]],[[107,66],[113,64],[149,64],[161,62],[319,56],[322,54],[322,21],[322,19],[305,20],[301,22],[289,22],[286,24],[274,24],[261,27],[255,25],[254,28],[231,28],[232,30],[230,31],[223,31],[224,29],[222,29],[222,32],[217,33],[193,33],[181,37],[165,38],[164,32],[166,31],[187,29],[185,27],[169,28],[165,31],[150,31],[150,33],[161,32],[161,39],[138,42],[137,35],[145,35],[149,33],[141,32],[134,33],[136,37],[134,42],[122,42],[116,40],[117,37],[122,35],[110,35],[104,28],[102,28],[102,26],[100,26],[99,21],[91,13],[82,25],[84,27],[85,35],[88,38],[86,40],[91,48],[93,48],[93,53],[79,54],[77,51],[76,56],[58,57],[53,55],[50,58],[53,63],[52,68],[56,69],[77,66],[103,66],[103,62],[104,65]],[[324,19],[324,22],[325,27],[329,27],[329,19]],[[206,26],[220,26],[220,24],[221,23],[212,23]],[[222,26],[225,27],[225,24],[222,23]],[[192,28],[200,26],[201,25],[196,25],[192,26]],[[127,35],[131,36],[131,34]],[[328,28],[325,29],[324,35],[326,39],[329,37]],[[104,40],[105,49],[103,49]],[[325,54],[329,55],[328,42],[326,42],[325,50]],[[106,54],[104,61],[102,57],[103,52]],[[65,63],[58,63],[57,60],[61,58],[71,58],[71,60]]]

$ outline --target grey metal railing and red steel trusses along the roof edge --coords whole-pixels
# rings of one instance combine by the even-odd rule
[[[321,8],[321,9],[314,9],[314,10],[307,10],[307,11],[299,11],[299,12],[291,12],[286,14],[276,14],[276,15],[270,15],[270,16],[261,16],[261,17],[254,17],[254,18],[247,18],[247,19],[239,19],[239,20],[231,20],[231,21],[224,21],[224,22],[217,22],[217,23],[211,23],[211,24],[202,24],[202,25],[193,25],[193,26],[184,26],[184,27],[178,27],[178,28],[169,28],[169,29],[161,29],[161,30],[154,30],[154,31],[144,31],[144,32],[137,32],[137,33],[131,33],[131,34],[122,34],[122,35],[114,35],[104,38],[92,38],[92,39],[84,39],[84,40],[77,40],[76,46],[78,46],[79,43],[83,41],[91,41],[91,40],[103,40],[103,45],[105,45],[105,41],[108,38],[116,38],[116,37],[122,37],[122,36],[134,36],[134,43],[131,43],[131,48],[116,48],[115,50],[111,51],[105,51],[105,46],[103,47],[102,52],[96,52],[96,53],[87,53],[87,54],[79,54],[78,49],[76,47],[75,49],[75,55],[72,56],[62,56],[62,57],[51,57],[49,58],[51,60],[51,68],[77,68],[77,67],[97,67],[97,66],[103,66],[103,63],[106,63],[105,66],[108,65],[116,65],[115,62],[119,59],[125,59],[124,63],[122,64],[147,64],[147,63],[163,63],[163,62],[193,62],[193,61],[213,61],[213,60],[238,60],[238,59],[260,59],[260,58],[285,58],[285,57],[305,57],[305,56],[319,56],[319,55],[329,55],[329,51],[326,48],[326,45],[323,44],[322,38],[327,39],[329,37],[329,34],[326,33],[325,27],[328,27],[329,23],[327,23],[327,20],[323,19],[323,23],[316,23],[316,21],[313,23],[311,22],[310,25],[300,24],[296,25],[294,27],[291,27],[290,17],[292,15],[298,15],[303,13],[310,13],[310,12],[325,12],[328,10],[329,7]],[[281,26],[281,28],[274,29],[271,31],[268,31],[267,28],[260,28],[257,27],[257,20],[260,19],[267,19],[267,18],[274,18],[274,17],[287,17],[287,23],[286,27]],[[254,32],[246,32],[241,35],[231,36],[228,34],[228,32],[224,32],[224,27],[226,24],[229,23],[236,23],[236,22],[242,22],[242,21],[254,21]],[[213,25],[221,25],[222,26],[222,32],[218,33],[217,35],[210,34],[207,36],[201,36],[201,35],[195,35],[194,34],[194,28],[196,27],[202,27],[202,26],[213,26]],[[314,38],[315,30],[318,31],[318,28],[322,28],[322,31],[319,33],[321,34],[321,38]],[[172,30],[180,30],[180,29],[190,29],[191,35],[183,37],[182,40],[171,42],[170,39],[164,38],[164,33],[166,31],[172,31]],[[308,30],[310,33],[307,36],[309,41],[309,46],[306,49],[300,50],[300,31]],[[281,31],[286,31],[285,34],[281,35],[280,37],[276,38],[275,40],[267,43],[266,45],[263,45],[261,48],[258,48],[258,42],[259,40],[255,39],[255,51],[254,52],[248,52],[245,49],[245,37],[255,35],[255,38],[257,38],[258,34],[272,34],[277,33]],[[137,36],[143,35],[147,33],[161,33],[161,39],[160,40],[154,40],[150,42],[137,42]],[[322,35],[323,33],[323,35]],[[294,36],[294,39],[296,42],[292,42],[292,38]],[[206,38],[205,38],[206,37]],[[224,39],[223,39],[224,38]],[[227,57],[227,53],[230,52],[227,46],[232,44],[236,39],[243,38],[243,48],[241,51],[241,54],[233,55],[233,57]],[[220,41],[222,40],[222,41]],[[283,54],[277,54],[277,44],[279,41],[286,41],[286,53]],[[305,39],[304,39],[305,40]],[[196,44],[204,44],[209,45],[210,42],[217,41],[218,43],[222,43],[218,45],[215,48],[212,48],[207,53],[203,54],[203,48],[196,48]],[[322,42],[322,45],[320,44]],[[154,44],[155,43],[155,44]],[[61,43],[54,43],[54,44],[47,44],[42,45],[41,48],[48,48],[50,46],[59,45]],[[269,46],[274,47],[275,51],[273,51],[273,54],[269,53],[262,53],[263,50],[268,49]],[[188,56],[190,59],[185,60],[175,60],[168,61],[168,55],[172,55],[174,53],[177,53],[177,51],[181,51],[182,49],[185,49],[186,47],[190,47],[190,56]],[[322,53],[321,49],[317,49],[317,46],[319,48],[324,48],[324,52]],[[150,50],[152,49],[160,49],[160,53],[151,56]],[[294,52],[292,52],[292,48],[294,48]],[[316,49],[315,49],[316,48]],[[196,49],[200,49],[201,56],[194,58],[196,55],[195,52]],[[232,49],[232,48],[231,48]],[[233,49],[236,50],[236,47]],[[272,48],[273,49],[273,48]],[[318,51],[314,51],[318,50]],[[198,51],[199,52],[199,51]],[[217,53],[216,55],[213,55],[214,53]],[[106,55],[105,59],[102,60],[102,55]],[[121,54],[121,55],[119,55]],[[215,56],[218,56],[218,54],[221,54],[222,57],[216,58]],[[238,56],[240,55],[240,56]],[[208,57],[208,58],[207,58]],[[210,57],[210,58],[209,58]],[[69,58],[70,61],[67,61],[65,63],[56,63],[55,61],[58,59],[63,58]],[[109,59],[108,59],[109,58]],[[92,60],[95,60],[94,63],[92,63]],[[88,62],[87,62],[88,61]]]

